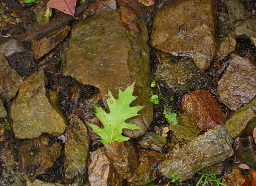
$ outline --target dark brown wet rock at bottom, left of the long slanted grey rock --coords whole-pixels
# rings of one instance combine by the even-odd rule
[[[132,185],[145,185],[162,176],[161,164],[166,159],[164,154],[156,151],[140,151],[140,165],[134,173],[127,178]]]

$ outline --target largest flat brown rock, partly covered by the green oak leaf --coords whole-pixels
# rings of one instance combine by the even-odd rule
[[[143,135],[153,118],[149,100],[150,60],[146,24],[136,14],[122,8],[102,12],[78,23],[71,32],[66,52],[66,72],[82,84],[94,85],[102,95],[108,89],[117,95],[136,81],[134,104],[144,105],[131,119],[141,130],[123,130],[129,137]]]

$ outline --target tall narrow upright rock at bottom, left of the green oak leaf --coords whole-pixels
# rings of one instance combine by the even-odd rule
[[[66,129],[65,162],[66,184],[83,185],[88,175],[90,137],[83,122],[74,115]]]

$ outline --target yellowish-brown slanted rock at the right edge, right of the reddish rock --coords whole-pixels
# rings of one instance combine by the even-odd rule
[[[244,132],[250,119],[256,117],[256,113],[251,108],[253,105],[256,105],[256,98],[254,98],[250,103],[236,110],[226,121],[224,126],[229,131],[232,138],[240,136]]]

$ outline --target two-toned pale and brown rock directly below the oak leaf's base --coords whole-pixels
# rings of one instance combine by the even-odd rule
[[[122,185],[139,165],[139,155],[130,142],[115,142],[91,152],[88,161],[91,185]]]

